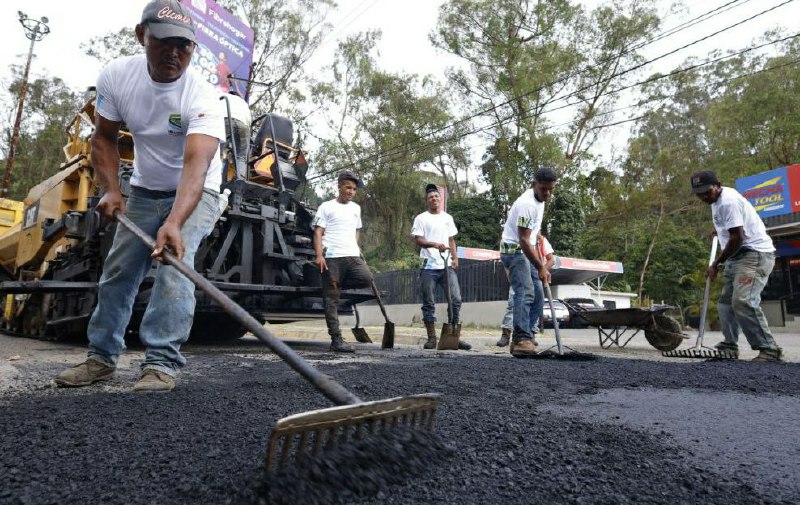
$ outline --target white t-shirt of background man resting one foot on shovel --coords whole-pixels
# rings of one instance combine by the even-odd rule
[[[361,255],[356,240],[356,230],[361,229],[361,206],[357,203],[328,200],[317,209],[311,226],[325,228],[322,250],[326,258]]]

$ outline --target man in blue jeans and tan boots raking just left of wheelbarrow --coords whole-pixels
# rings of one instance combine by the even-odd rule
[[[551,168],[536,171],[533,187],[511,205],[500,240],[500,261],[508,270],[508,280],[514,289],[514,331],[510,347],[511,354],[517,357],[536,354],[531,335],[531,317],[536,317],[535,313],[531,316],[536,307],[536,284],[549,283],[550,272],[544,258],[536,252],[535,240],[542,227],[544,204],[557,181],[558,175]]]

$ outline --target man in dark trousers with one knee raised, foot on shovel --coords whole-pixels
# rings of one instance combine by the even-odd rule
[[[319,206],[314,216],[315,263],[322,273],[322,297],[325,323],[331,336],[331,351],[355,352],[345,343],[339,328],[339,296],[342,288],[365,288],[372,283],[361,249],[361,207],[353,201],[364,184],[352,172],[339,173],[339,196]]]

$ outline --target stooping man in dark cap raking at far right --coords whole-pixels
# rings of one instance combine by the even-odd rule
[[[722,252],[708,267],[713,281],[724,264],[718,308],[725,339],[717,349],[738,353],[741,328],[758,361],[781,361],[783,352],[769,331],[761,310],[761,291],[775,266],[775,246],[758,213],[735,189],[722,186],[714,172],[703,170],[691,177],[692,192],[711,205],[714,230]]]

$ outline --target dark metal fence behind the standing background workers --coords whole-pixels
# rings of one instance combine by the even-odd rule
[[[387,305],[422,303],[419,270],[394,270],[375,275],[375,284]],[[489,302],[508,298],[508,280],[499,261],[462,261],[456,270],[463,302]],[[436,301],[447,301],[444,290],[438,290]]]

